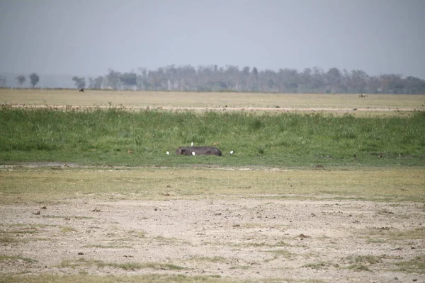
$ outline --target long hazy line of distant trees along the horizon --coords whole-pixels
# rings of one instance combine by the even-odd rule
[[[86,80],[74,76],[77,88],[84,88]],[[261,70],[256,67],[217,67],[217,65],[171,65],[156,70],[139,68],[124,72],[108,70],[105,76],[88,78],[87,88],[140,91],[236,91],[267,93],[425,93],[425,81],[399,74],[369,76],[362,70],[342,71],[318,67]]]

